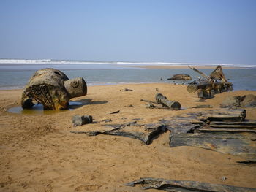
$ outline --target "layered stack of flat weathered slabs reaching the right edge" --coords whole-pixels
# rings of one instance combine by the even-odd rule
[[[245,110],[212,112],[197,117],[197,122],[187,119],[190,123],[176,124],[170,133],[170,147],[202,147],[256,161],[256,121],[246,121]],[[177,131],[179,127],[189,131]]]

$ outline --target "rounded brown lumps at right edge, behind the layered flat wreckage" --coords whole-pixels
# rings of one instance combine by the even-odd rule
[[[220,107],[256,107],[256,96],[249,94],[245,96],[227,96]]]

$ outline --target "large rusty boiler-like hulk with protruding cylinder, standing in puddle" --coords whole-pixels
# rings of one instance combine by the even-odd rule
[[[40,69],[23,89],[21,106],[23,109],[33,107],[34,99],[43,105],[44,110],[65,110],[69,107],[69,99],[86,93],[87,86],[82,77],[69,80],[57,69]]]

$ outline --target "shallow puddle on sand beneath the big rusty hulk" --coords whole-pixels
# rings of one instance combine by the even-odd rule
[[[22,107],[12,107],[8,110],[8,112],[18,113],[18,114],[26,114],[26,115],[51,115],[58,112],[67,112],[68,110],[75,110],[78,107],[83,106],[82,102],[78,101],[69,101],[69,109],[67,110],[44,110],[42,104],[35,104],[31,109],[22,109]]]

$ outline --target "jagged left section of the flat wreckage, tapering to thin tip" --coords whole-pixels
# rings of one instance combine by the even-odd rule
[[[74,134],[89,134],[89,136],[97,136],[98,134],[107,134],[107,135],[116,135],[116,136],[123,136],[123,137],[129,137],[132,139],[139,139],[146,145],[149,145],[160,133],[166,130],[165,126],[162,124],[151,124],[144,126],[143,128],[140,128],[140,131],[138,130],[138,127],[135,125],[134,128],[134,123],[125,123],[125,124],[110,124],[108,126],[112,126],[115,128],[106,130],[106,131],[71,131],[71,133]],[[107,125],[105,125],[107,126]],[[129,127],[129,128],[127,128]]]

